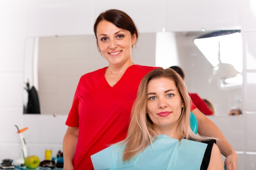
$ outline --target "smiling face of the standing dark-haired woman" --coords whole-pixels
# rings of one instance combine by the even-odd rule
[[[97,26],[98,48],[110,65],[118,66],[131,61],[132,45],[136,40],[135,34],[131,35],[128,30],[120,29],[106,20]]]

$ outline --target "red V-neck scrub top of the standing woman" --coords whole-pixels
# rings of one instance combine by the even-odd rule
[[[111,87],[106,68],[81,77],[66,125],[79,127],[74,170],[93,170],[90,156],[125,139],[141,79],[156,67],[132,65]]]

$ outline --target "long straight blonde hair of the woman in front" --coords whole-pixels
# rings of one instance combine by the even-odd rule
[[[171,68],[163,69],[156,68],[146,74],[139,84],[137,97],[135,103],[132,106],[131,120],[128,128],[128,134],[122,144],[126,144],[123,153],[123,161],[129,160],[133,156],[142,152],[147,146],[153,143],[157,138],[156,131],[153,127],[153,122],[150,120],[146,113],[147,106],[147,90],[148,82],[151,79],[158,78],[169,78],[172,79],[180,93],[183,101],[183,109],[181,116],[178,120],[177,134],[179,141],[182,139],[190,139],[194,141],[204,141],[213,138],[201,137],[196,135],[190,128],[190,106],[191,99],[189,97],[186,85],[182,77]]]

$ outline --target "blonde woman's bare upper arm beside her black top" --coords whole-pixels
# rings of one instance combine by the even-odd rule
[[[216,144],[211,149],[211,158],[207,170],[224,170],[220,150]]]

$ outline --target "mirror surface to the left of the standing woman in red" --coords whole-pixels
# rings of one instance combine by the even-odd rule
[[[81,75],[107,65],[93,35],[27,38],[25,56],[24,82],[38,91],[41,114],[67,115]]]

